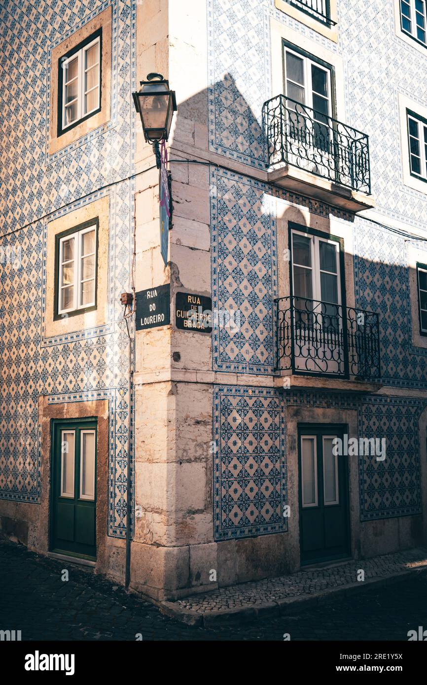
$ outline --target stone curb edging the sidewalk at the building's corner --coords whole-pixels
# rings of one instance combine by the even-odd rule
[[[234,623],[256,621],[258,619],[276,618],[278,616],[291,616],[317,604],[325,606],[339,597],[350,597],[356,593],[367,592],[373,588],[381,588],[404,580],[406,576],[414,573],[426,573],[427,562],[413,569],[392,573],[383,577],[368,578],[363,583],[351,583],[338,588],[321,590],[313,595],[297,595],[284,597],[277,601],[263,602],[259,606],[233,607],[219,611],[206,612],[204,614],[186,609],[178,602],[162,601],[158,603],[160,612],[171,619],[181,621],[187,625],[199,627],[214,627],[217,625],[232,625]]]

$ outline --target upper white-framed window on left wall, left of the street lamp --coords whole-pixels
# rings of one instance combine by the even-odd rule
[[[100,110],[101,33],[60,59],[58,135]]]

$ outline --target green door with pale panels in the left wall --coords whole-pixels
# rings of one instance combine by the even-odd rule
[[[51,551],[94,560],[97,424],[53,421]]]

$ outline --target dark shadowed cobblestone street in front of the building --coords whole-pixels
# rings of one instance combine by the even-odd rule
[[[38,556],[0,541],[0,630],[21,630],[23,640],[407,640],[427,627],[427,574],[390,588],[337,598],[293,616],[218,628],[192,627],[92,571]]]

